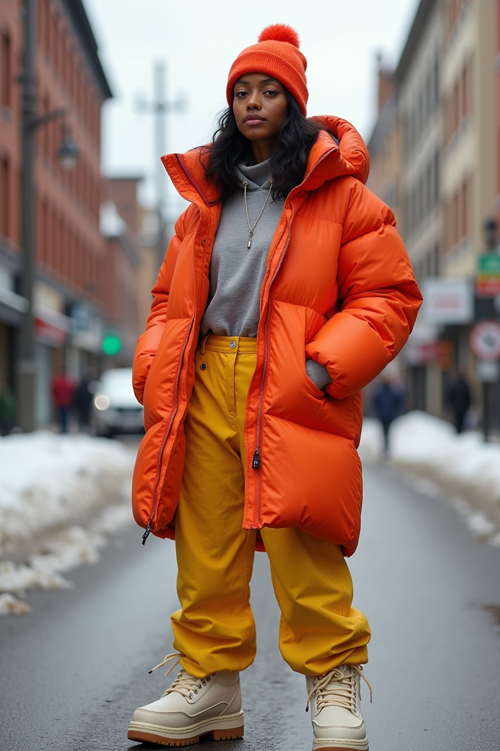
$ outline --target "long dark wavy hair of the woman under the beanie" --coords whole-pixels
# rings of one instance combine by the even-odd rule
[[[318,123],[304,117],[288,89],[285,93],[285,119],[279,133],[279,145],[271,157],[273,198],[286,198],[304,179],[309,152],[322,129]],[[238,189],[235,167],[251,154],[252,143],[238,131],[232,107],[228,107],[220,115],[205,167],[205,177],[215,182],[220,190],[219,201],[224,201]]]

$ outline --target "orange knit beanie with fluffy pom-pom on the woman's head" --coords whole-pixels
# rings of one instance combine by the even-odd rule
[[[236,81],[247,73],[266,73],[283,83],[298,101],[302,113],[307,104],[307,60],[298,49],[298,34],[291,26],[277,23],[267,26],[259,35],[257,44],[252,44],[238,55],[229,71],[226,97],[232,105]]]

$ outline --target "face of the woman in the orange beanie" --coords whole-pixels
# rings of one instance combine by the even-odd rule
[[[268,156],[274,152],[286,106],[285,87],[275,78],[249,73],[236,81],[232,111],[240,133],[253,142],[254,154],[256,147]]]

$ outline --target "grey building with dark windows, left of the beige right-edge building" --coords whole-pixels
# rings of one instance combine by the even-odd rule
[[[441,267],[441,53],[441,2],[422,0],[394,72],[401,130],[398,226],[421,285],[438,276]],[[442,369],[436,333],[421,313],[402,359],[410,406],[440,414]]]

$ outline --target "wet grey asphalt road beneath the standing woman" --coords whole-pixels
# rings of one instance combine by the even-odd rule
[[[0,619],[1,751],[126,751],[138,704],[163,692],[148,676],[171,644],[177,607],[171,543],[139,529],[110,541],[73,590],[31,593],[26,617]],[[500,549],[474,540],[444,503],[390,468],[365,467],[364,528],[351,559],[355,605],[373,629],[371,751],[499,751]],[[309,751],[304,678],[277,650],[267,559],[256,556],[256,662],[242,674],[245,737],[199,751]]]

